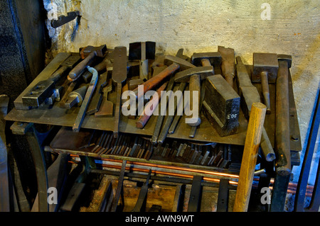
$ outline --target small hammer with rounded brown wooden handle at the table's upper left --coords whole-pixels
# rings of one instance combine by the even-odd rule
[[[83,60],[69,72],[68,80],[77,80],[82,74],[82,72],[84,72],[85,67],[91,64],[92,60],[96,56],[104,57],[106,51],[107,45],[100,45],[99,47],[93,47],[91,45],[88,45],[87,47],[80,48],[80,56]]]

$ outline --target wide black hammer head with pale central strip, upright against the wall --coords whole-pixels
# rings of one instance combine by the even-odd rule
[[[129,43],[129,60],[154,60],[155,54],[154,42]]]

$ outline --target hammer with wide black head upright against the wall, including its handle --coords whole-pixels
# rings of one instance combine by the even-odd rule
[[[129,60],[140,60],[139,77],[146,81],[149,75],[149,60],[154,60],[156,43],[141,42],[129,44]]]

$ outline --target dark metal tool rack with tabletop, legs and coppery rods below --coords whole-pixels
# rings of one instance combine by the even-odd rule
[[[213,165],[208,166],[208,164],[190,164],[190,162],[185,161],[186,159],[169,158],[169,152],[168,154],[166,154],[166,152],[163,152],[163,150],[162,152],[159,152],[159,149],[156,149],[156,147],[154,147],[154,152],[149,159],[147,157],[130,157],[119,154],[98,154],[92,152],[94,146],[83,148],[83,145],[85,145],[86,142],[85,138],[90,137],[93,130],[100,132],[112,132],[114,117],[96,118],[94,115],[87,115],[82,123],[80,132],[75,133],[72,132],[71,128],[73,127],[73,123],[75,121],[75,118],[77,117],[79,108],[72,108],[70,110],[67,110],[65,108],[59,108],[58,102],[55,102],[50,108],[48,108],[48,106],[41,106],[33,109],[26,109],[26,107],[22,105],[22,96],[26,94],[26,92],[28,92],[31,87],[33,87],[38,81],[47,79],[50,74],[55,72],[55,70],[58,69],[59,65],[70,55],[76,54],[78,53],[59,53],[48,64],[48,66],[43,69],[43,72],[41,72],[41,74],[39,74],[38,77],[33,80],[33,82],[26,88],[26,90],[23,91],[21,95],[18,96],[18,98],[16,98],[16,101],[14,101],[16,108],[14,108],[8,115],[6,115],[5,118],[6,120],[15,122],[11,126],[11,130],[14,134],[26,135],[26,137],[28,138],[31,151],[35,159],[34,164],[36,166],[36,176],[38,180],[38,210],[48,211],[50,209],[47,202],[47,189],[48,184],[50,183],[50,179],[48,178],[48,167],[46,166],[45,152],[69,154],[73,162],[77,161],[76,159],[80,159],[84,167],[83,171],[85,171],[86,174],[89,174],[90,172],[96,174],[108,174],[117,178],[117,176],[119,176],[121,173],[119,172],[119,169],[121,168],[122,163],[125,161],[127,162],[127,169],[140,169],[140,166],[143,166],[140,170],[140,173],[137,173],[137,171],[127,171],[124,175],[126,176],[126,179],[129,179],[131,177],[141,177],[145,180],[146,169],[149,168],[152,169],[152,171],[158,171],[158,173],[160,171],[159,174],[151,175],[151,180],[162,180],[166,181],[167,183],[180,182],[189,185],[191,184],[191,193],[199,192],[201,186],[209,186],[215,188],[224,186],[235,191],[239,169],[221,168]],[[248,72],[251,73],[252,66],[246,65],[246,67],[248,69]],[[218,72],[215,72],[215,74],[218,74]],[[261,92],[260,84],[254,85],[257,87],[258,91]],[[112,92],[110,94],[110,101],[114,102],[115,98],[115,92]],[[270,101],[272,113],[265,116],[265,129],[267,130],[267,134],[269,135],[270,142],[273,146],[275,128],[274,84],[270,84]],[[290,141],[292,165],[299,165],[299,151],[301,151],[302,146],[300,142],[299,124],[297,120],[297,111],[294,103],[290,73],[289,111],[290,137],[292,138]],[[166,139],[169,142],[186,141],[190,144],[200,146],[210,143],[233,145],[235,149],[238,149],[241,152],[242,147],[245,144],[245,135],[247,130],[247,120],[245,119],[241,110],[239,116],[240,126],[238,132],[235,135],[220,137],[220,135],[218,135],[213,126],[210,125],[210,123],[202,113],[201,119],[202,123],[199,126],[195,137],[188,137],[190,128],[188,127],[188,125],[186,125],[186,123],[178,123],[176,131],[173,134],[167,135]],[[180,119],[180,122],[181,121],[184,121],[184,116],[182,116],[182,118]],[[135,122],[136,120],[129,119],[124,115],[121,115],[119,123],[120,134],[132,135],[133,137],[139,136],[142,137],[142,139],[148,140],[153,133],[156,116],[152,115],[149,119],[149,122],[143,129],[136,128]],[[38,125],[47,125],[48,130],[46,130],[46,132],[38,131]],[[158,154],[156,153],[156,150],[158,151]],[[263,161],[261,162],[261,164],[265,164],[265,167],[268,170],[271,169],[271,171],[273,171],[273,165],[267,164],[267,162],[264,163]],[[161,174],[161,172],[163,174]],[[181,174],[183,174],[182,177]],[[257,177],[257,179],[258,178],[259,177]],[[274,178],[274,183],[270,210],[282,211],[284,209],[284,201],[287,194],[290,176],[276,176],[275,174],[272,174],[272,178]],[[225,180],[227,182],[225,182]],[[269,182],[270,181],[267,181],[266,186],[269,186]],[[222,191],[223,189],[219,190],[219,194]],[[178,193],[180,193],[180,191],[178,191]],[[225,193],[222,193],[219,196],[220,198],[222,196],[228,196],[228,193],[227,195],[225,195]],[[176,196],[174,198],[175,206],[178,203],[178,197],[179,196]],[[193,204],[197,202],[198,200],[195,200],[193,201]],[[225,210],[227,210],[228,205],[226,207],[225,203],[223,204]],[[221,203],[221,201],[218,202],[220,210],[223,210],[223,204]],[[178,209],[176,208],[176,210]],[[193,208],[190,210],[199,209]]]

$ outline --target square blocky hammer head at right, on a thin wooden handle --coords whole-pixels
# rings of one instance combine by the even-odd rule
[[[279,63],[276,53],[254,52],[252,82],[261,81],[261,72],[267,72],[269,83],[275,83],[277,79]]]

